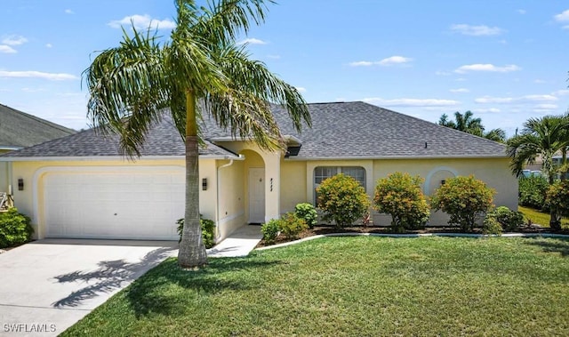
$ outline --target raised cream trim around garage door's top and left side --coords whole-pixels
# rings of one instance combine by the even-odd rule
[[[32,210],[33,214],[31,216],[32,223],[36,224],[37,226],[37,237],[44,238],[45,237],[45,229],[44,223],[40,224],[39,222],[39,181],[42,178],[44,173],[58,173],[58,172],[77,172],[77,173],[108,173],[108,172],[127,172],[132,171],[132,169],[137,171],[160,171],[167,169],[165,171],[178,171],[181,173],[186,172],[186,168],[184,165],[159,165],[159,166],[44,166],[36,170],[32,177],[33,187],[32,187]]]

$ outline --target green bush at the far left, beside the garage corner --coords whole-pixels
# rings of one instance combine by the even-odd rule
[[[0,248],[21,245],[31,240],[34,229],[30,219],[16,208],[0,213]]]

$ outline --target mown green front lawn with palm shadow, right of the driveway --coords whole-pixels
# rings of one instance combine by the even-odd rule
[[[326,237],[164,261],[64,336],[566,335],[569,241]]]

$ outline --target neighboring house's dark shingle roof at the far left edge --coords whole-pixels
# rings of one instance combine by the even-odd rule
[[[24,148],[75,132],[0,104],[0,148]]]

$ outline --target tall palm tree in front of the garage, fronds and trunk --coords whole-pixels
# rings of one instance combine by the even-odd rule
[[[268,0],[268,3],[272,3]],[[178,261],[183,268],[207,263],[199,225],[199,120],[210,114],[234,137],[260,148],[283,146],[269,103],[287,108],[295,128],[310,126],[301,94],[266,66],[250,60],[236,38],[260,24],[264,0],[218,0],[209,8],[176,0],[176,28],[167,41],[124,30],[121,44],[100,52],[84,71],[93,126],[120,135],[124,156],[140,156],[148,130],[168,108],[186,145],[186,211]]]

